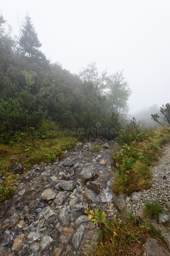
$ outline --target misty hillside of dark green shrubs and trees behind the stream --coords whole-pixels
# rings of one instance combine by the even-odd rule
[[[24,127],[38,128],[44,120],[63,128],[114,127],[128,123],[128,98],[132,91],[123,71],[99,73],[96,63],[72,74],[59,63],[50,63],[40,50],[31,17],[26,14],[20,34],[0,16],[0,125],[1,133],[14,135]],[[154,126],[152,106],[136,113],[140,124]],[[102,132],[101,132],[102,134]]]

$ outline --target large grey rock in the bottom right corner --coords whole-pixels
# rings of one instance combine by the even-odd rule
[[[163,248],[158,240],[147,238],[144,244],[144,256],[170,256],[170,253]]]

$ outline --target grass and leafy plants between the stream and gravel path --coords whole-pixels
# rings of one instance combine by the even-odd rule
[[[149,166],[156,164],[162,144],[170,139],[170,129],[139,128],[133,119],[117,137],[118,151],[113,155],[117,168],[113,190],[118,195],[129,195],[151,187]]]

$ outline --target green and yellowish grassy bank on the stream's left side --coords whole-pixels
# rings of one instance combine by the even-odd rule
[[[33,127],[17,132],[12,137],[5,137],[0,144],[0,175],[3,183],[0,186],[0,203],[8,199],[13,192],[13,182],[17,178],[8,172],[10,166],[20,163],[23,170],[34,164],[51,163],[57,157],[62,158],[65,150],[76,145],[79,137],[55,134],[54,123],[46,121],[39,130]]]

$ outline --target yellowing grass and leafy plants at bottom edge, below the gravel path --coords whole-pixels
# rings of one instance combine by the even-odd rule
[[[94,213],[87,209],[86,212],[89,220],[98,223],[100,234],[97,246],[89,246],[91,253],[86,255],[142,255],[147,237],[156,238],[167,248],[161,231],[149,221],[130,214],[126,222],[121,222],[114,216],[112,219],[104,218],[103,211],[95,210]]]

